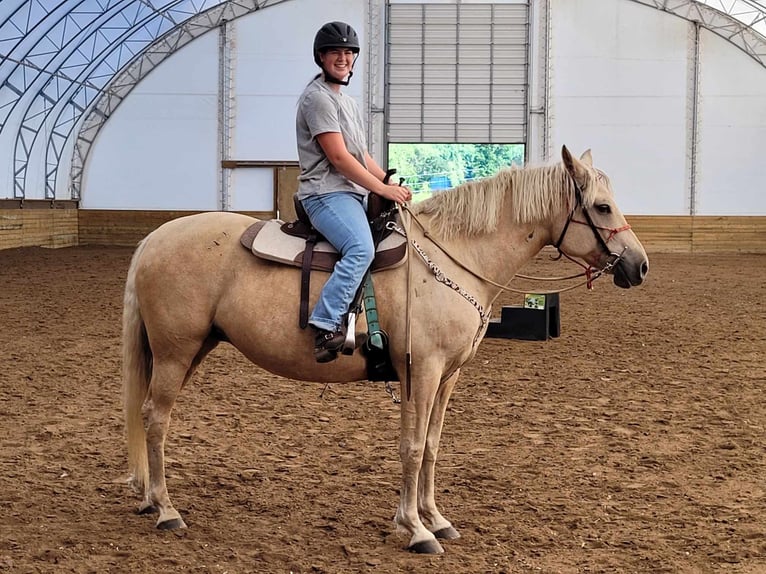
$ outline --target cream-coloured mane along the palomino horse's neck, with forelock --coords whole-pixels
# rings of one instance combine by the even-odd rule
[[[595,170],[593,170],[595,172]],[[595,176],[595,173],[591,174]],[[583,203],[593,203],[586,186]],[[571,205],[572,178],[558,163],[510,167],[491,177],[469,181],[416,203],[413,213],[432,215],[430,232],[442,238],[489,233],[497,228],[503,209],[516,223],[536,223]]]

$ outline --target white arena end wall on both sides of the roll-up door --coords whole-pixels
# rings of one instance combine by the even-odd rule
[[[283,2],[234,21],[229,158],[296,160],[295,102],[316,71],[317,23],[345,19],[364,35],[366,4]],[[695,118],[692,23],[628,0],[551,0],[550,15],[548,158],[562,144],[592,148],[629,214],[766,215],[754,183],[766,175],[766,69],[703,29]],[[364,72],[362,54],[349,87],[360,104]],[[158,66],[106,123],[81,207],[219,209],[217,118],[211,32]],[[273,185],[271,169],[233,170],[231,209],[275,209]]]

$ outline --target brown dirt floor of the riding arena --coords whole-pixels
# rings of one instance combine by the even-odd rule
[[[486,339],[437,465],[462,538],[418,556],[393,527],[384,386],[299,384],[229,346],[185,389],[167,444],[189,529],[134,513],[130,255],[0,251],[2,572],[766,572],[766,256],[650,254],[640,288],[563,294],[558,339]]]

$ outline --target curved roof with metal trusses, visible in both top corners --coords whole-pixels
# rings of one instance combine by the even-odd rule
[[[0,135],[16,131],[14,196],[25,196],[30,155],[42,136],[45,197],[55,199],[64,151],[73,142],[70,193],[79,199],[98,131],[147,73],[221,24],[284,1],[16,0],[11,6],[14,0],[4,0]],[[697,22],[766,67],[766,6],[756,0],[631,1]]]

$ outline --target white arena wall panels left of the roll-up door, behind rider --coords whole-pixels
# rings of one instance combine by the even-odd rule
[[[297,161],[298,96],[318,72],[316,30],[344,20],[364,45],[366,2],[283,2],[234,20],[234,160]],[[106,122],[83,180],[83,209],[216,210],[219,198],[218,34],[153,70]],[[346,93],[362,105],[364,55]],[[273,170],[233,170],[230,208],[274,209]]]

